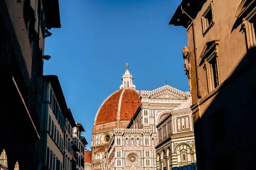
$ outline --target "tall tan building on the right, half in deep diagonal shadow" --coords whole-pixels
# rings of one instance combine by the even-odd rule
[[[255,138],[248,131],[255,119],[255,8],[255,0],[183,0],[169,23],[187,29],[183,59],[200,170],[254,167],[247,148],[256,144],[248,139]]]

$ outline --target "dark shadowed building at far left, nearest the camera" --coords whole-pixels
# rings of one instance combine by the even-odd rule
[[[41,166],[39,118],[49,27],[61,27],[58,0],[0,1],[1,169]]]

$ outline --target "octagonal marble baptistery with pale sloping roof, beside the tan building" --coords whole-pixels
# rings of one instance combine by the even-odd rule
[[[190,97],[157,124],[158,170],[197,170]]]

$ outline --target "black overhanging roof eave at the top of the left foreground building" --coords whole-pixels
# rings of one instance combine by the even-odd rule
[[[61,28],[60,8],[58,0],[43,0],[46,24],[51,28]]]

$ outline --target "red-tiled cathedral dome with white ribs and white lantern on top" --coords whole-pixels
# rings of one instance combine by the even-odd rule
[[[128,71],[128,65],[126,65],[126,71],[122,77],[122,85],[120,85],[119,90],[108,96],[99,107],[94,120],[94,125],[97,126],[110,122],[131,120],[141,102],[139,91],[136,90],[132,80],[132,75]],[[121,124],[119,128],[122,128],[122,125],[126,127],[125,124]]]

